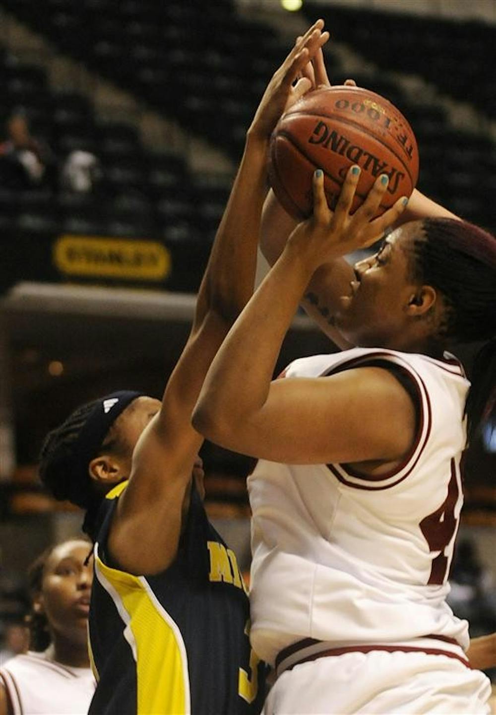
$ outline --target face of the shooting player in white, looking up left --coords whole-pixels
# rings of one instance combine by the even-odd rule
[[[420,222],[392,232],[380,250],[355,264],[355,280],[340,299],[336,325],[342,335],[362,347],[407,347],[412,319],[407,306],[418,285],[410,275],[412,241]]]

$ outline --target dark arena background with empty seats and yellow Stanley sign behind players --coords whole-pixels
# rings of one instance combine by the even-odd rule
[[[0,0],[3,638],[24,616],[27,564],[81,523],[39,485],[44,434],[122,386],[162,395],[254,109],[318,17],[331,81],[410,121],[420,190],[495,232],[494,0]],[[14,165],[19,123],[33,151]],[[300,313],[277,369],[329,350]],[[489,415],[467,451],[452,571],[473,636],[496,631],[495,430]],[[202,455],[209,515],[247,571],[251,464],[210,443]]]

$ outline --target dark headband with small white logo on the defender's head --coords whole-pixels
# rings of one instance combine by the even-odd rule
[[[127,408],[127,405],[143,395],[144,393],[137,393],[133,390],[119,390],[106,395],[96,403],[74,445],[76,463],[81,465],[81,468],[85,471],[88,469],[89,463],[96,457],[111,425]]]

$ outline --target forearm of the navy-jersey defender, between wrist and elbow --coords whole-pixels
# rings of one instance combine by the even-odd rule
[[[233,322],[252,295],[259,221],[267,194],[266,162],[267,143],[248,135],[200,286],[196,325],[209,310]]]

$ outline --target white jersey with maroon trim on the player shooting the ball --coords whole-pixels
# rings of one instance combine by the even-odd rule
[[[251,637],[265,661],[273,664],[302,638],[339,648],[435,636],[467,648],[467,622],[445,597],[463,501],[470,383],[460,363],[446,358],[354,348],[296,360],[285,371],[314,378],[394,363],[415,388],[418,420],[410,454],[384,475],[259,461],[248,480]]]

